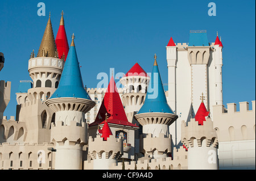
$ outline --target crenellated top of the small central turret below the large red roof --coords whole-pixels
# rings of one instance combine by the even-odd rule
[[[107,141],[104,141],[100,135],[96,138],[89,137],[88,154],[92,159],[118,159],[123,154],[122,138],[115,138],[110,135]]]

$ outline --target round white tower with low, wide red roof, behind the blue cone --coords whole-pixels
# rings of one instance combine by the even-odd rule
[[[138,124],[134,119],[134,115],[144,103],[149,81],[150,77],[138,63],[120,79],[126,90],[125,94],[122,95],[122,102],[130,123]]]

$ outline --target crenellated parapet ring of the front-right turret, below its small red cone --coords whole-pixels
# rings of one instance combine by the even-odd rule
[[[204,121],[204,125],[199,125],[196,119],[191,119],[187,124],[184,120],[181,122],[181,142],[187,148],[193,147],[195,144],[197,146],[217,146],[217,134],[210,118]]]

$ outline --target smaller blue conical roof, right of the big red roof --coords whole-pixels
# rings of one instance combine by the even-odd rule
[[[156,60],[152,69],[145,102],[138,113],[146,112],[174,113],[167,103],[166,94],[164,93],[163,83]]]

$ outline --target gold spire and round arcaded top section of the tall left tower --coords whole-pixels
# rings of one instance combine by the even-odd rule
[[[38,56],[35,57],[33,50],[28,61],[28,72],[34,85],[34,89],[28,90],[28,98],[31,101],[35,99],[47,100],[59,85],[63,67],[64,60],[58,57],[51,18],[49,17]]]

